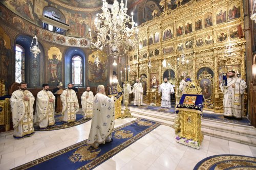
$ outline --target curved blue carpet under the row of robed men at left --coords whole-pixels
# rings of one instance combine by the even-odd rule
[[[85,122],[88,122],[91,119],[83,119],[83,112],[82,111],[78,111],[76,113],[76,122],[71,122],[69,124],[63,124],[62,123],[62,114],[61,112],[59,113],[55,113],[54,114],[54,119],[55,119],[55,126],[53,127],[48,127],[46,129],[40,129],[38,124],[34,124],[34,129],[35,131],[52,131],[52,130],[57,130],[57,129],[65,129],[65,128],[70,128],[73,126],[77,126],[80,124],[83,124]]]

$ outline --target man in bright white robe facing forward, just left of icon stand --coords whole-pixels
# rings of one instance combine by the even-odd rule
[[[170,106],[170,94],[174,93],[173,85],[167,82],[167,78],[164,78],[164,82],[159,87],[159,95],[162,92],[161,107],[172,108]]]

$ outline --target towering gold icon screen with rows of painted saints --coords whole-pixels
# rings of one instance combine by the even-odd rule
[[[129,81],[138,77],[145,91],[152,91],[167,77],[179,99],[180,77],[189,77],[203,89],[205,109],[223,112],[223,72],[246,78],[245,39],[239,38],[238,25],[244,27],[242,1],[191,1],[161,13],[139,27],[138,50],[127,55]]]

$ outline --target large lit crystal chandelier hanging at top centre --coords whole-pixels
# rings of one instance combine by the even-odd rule
[[[125,7],[123,0],[121,0],[120,8],[118,1],[114,0],[111,12],[108,9],[106,0],[102,1],[102,13],[97,14],[94,20],[96,39],[92,38],[91,30],[89,29],[91,47],[98,48],[102,51],[104,46],[109,45],[111,53],[116,56],[119,54],[119,48],[122,48],[123,51],[126,52],[129,50],[129,47],[137,46],[137,24],[133,20],[133,13],[132,18],[126,14],[127,0],[125,1]],[[128,25],[131,25],[131,29]]]

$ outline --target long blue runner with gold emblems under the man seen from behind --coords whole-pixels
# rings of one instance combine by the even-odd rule
[[[81,141],[45,157],[36,159],[14,169],[92,169],[122,151],[160,124],[136,119],[117,127],[112,132],[113,141],[94,149]]]

